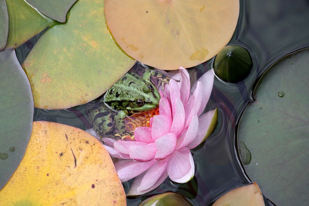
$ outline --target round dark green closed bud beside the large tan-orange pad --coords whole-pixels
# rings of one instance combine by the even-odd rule
[[[236,83],[243,80],[252,69],[252,58],[247,49],[228,45],[214,59],[214,72],[222,80]]]

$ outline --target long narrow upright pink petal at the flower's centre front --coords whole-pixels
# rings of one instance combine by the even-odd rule
[[[171,132],[174,133],[177,137],[181,135],[182,131],[184,130],[184,105],[182,104],[180,99],[176,99],[175,104],[175,115],[173,117],[173,122],[171,126]]]

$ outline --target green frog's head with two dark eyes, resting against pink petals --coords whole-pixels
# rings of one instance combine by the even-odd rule
[[[136,93],[134,102],[129,104],[127,111],[144,112],[155,109],[159,106],[160,93],[155,85],[148,79],[143,79],[141,88]]]

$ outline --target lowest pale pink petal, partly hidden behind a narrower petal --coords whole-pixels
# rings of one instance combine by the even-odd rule
[[[130,187],[130,190],[129,190],[128,194],[127,194],[127,196],[145,194],[146,192],[149,192],[149,191],[159,187],[159,185],[162,184],[164,182],[164,180],[167,178],[167,171],[165,171],[164,174],[159,178],[159,180],[152,187],[150,187],[147,190],[138,191],[137,188],[140,186],[145,173],[146,172],[144,172],[143,174],[140,174],[139,176],[137,176],[134,179],[134,181],[133,181],[133,183],[132,183],[132,185]]]

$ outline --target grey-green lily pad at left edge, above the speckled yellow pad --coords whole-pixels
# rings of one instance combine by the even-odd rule
[[[13,48],[0,52],[0,189],[25,154],[32,131],[33,98]]]

